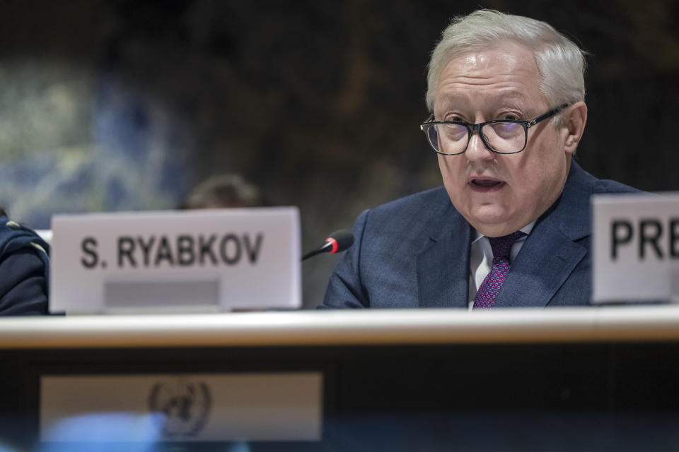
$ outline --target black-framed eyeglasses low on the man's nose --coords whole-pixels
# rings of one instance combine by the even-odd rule
[[[497,154],[516,154],[526,149],[528,143],[528,129],[540,121],[554,116],[568,104],[550,110],[532,121],[486,121],[479,124],[465,122],[434,121],[432,114],[419,128],[424,131],[431,148],[443,155],[458,155],[469,145],[472,133],[478,132],[483,144]]]

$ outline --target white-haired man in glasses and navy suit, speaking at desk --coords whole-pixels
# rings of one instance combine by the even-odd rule
[[[633,189],[572,160],[584,66],[547,23],[456,18],[431,56],[421,126],[443,187],[361,213],[323,307],[589,304],[590,196]]]

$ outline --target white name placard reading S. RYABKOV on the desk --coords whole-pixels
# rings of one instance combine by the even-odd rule
[[[50,309],[301,307],[294,207],[55,215]]]

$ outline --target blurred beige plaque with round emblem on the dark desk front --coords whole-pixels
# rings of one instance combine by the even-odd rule
[[[318,441],[320,372],[42,376],[46,442]]]

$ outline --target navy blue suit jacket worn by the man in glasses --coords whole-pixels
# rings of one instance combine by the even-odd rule
[[[494,307],[589,304],[590,196],[629,191],[571,162],[562,195],[535,222]],[[467,308],[472,232],[443,187],[366,210],[321,307]]]

